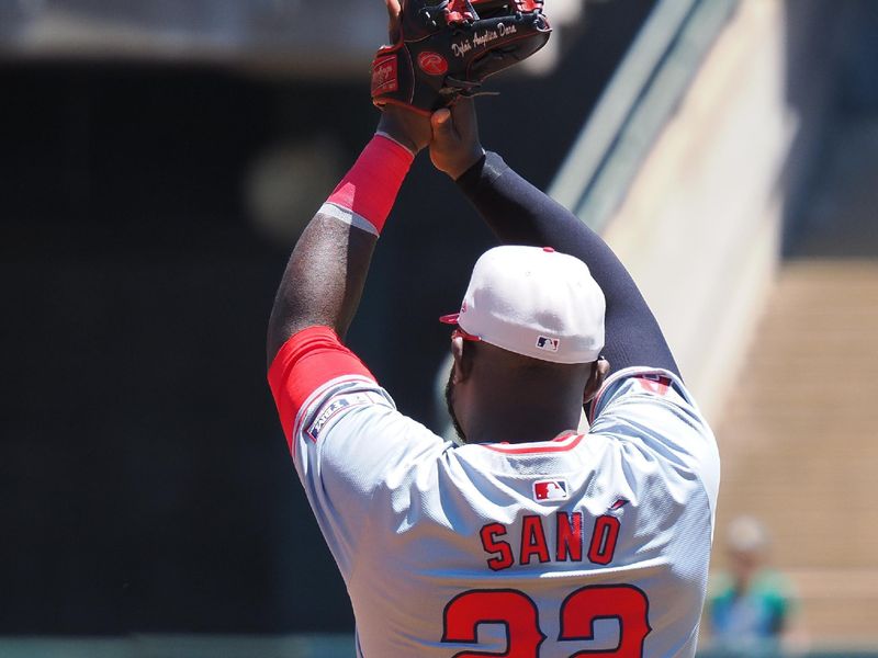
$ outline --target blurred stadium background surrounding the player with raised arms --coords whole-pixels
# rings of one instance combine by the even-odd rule
[[[0,656],[353,655],[263,345],[381,4],[0,0]],[[878,2],[547,14],[483,141],[630,265],[717,430],[701,655],[878,656]],[[421,158],[349,342],[437,430],[491,245]]]

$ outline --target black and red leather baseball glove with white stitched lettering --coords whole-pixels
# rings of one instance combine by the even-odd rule
[[[372,101],[430,114],[549,41],[543,0],[403,0],[395,43],[372,63]]]

